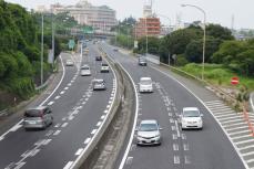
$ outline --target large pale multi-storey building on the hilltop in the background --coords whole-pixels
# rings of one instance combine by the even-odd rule
[[[51,6],[51,11],[54,14],[68,12],[79,24],[89,25],[103,32],[108,32],[116,25],[114,10],[110,9],[108,6],[92,6],[88,0],[81,0],[75,6],[55,3]]]

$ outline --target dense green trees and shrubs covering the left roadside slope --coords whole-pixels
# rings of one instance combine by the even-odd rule
[[[47,80],[52,73],[52,65],[47,62],[48,51],[51,49],[51,15],[44,19],[43,72]],[[65,24],[72,27],[77,23],[69,19]],[[65,27],[58,22],[57,25]],[[0,34],[1,110],[35,94],[35,86],[40,82],[41,14],[28,12],[18,4],[0,1]],[[57,35],[55,56],[63,46],[67,47],[67,36]]]

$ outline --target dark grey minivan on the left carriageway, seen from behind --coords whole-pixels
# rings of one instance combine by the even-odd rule
[[[45,129],[53,123],[52,110],[47,106],[29,108],[23,115],[23,127]]]

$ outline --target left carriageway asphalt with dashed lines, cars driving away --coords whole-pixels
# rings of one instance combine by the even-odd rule
[[[26,131],[22,122],[0,136],[1,169],[60,169],[70,168],[98,133],[109,112],[115,92],[114,74],[100,73],[101,62],[95,61],[96,47],[90,52],[62,53],[62,78],[50,97],[33,103],[49,105],[54,123],[45,130]],[[82,56],[83,55],[83,56]],[[72,59],[75,66],[65,66]],[[80,66],[89,64],[92,76],[81,76]],[[92,91],[92,80],[102,77],[106,91]]]

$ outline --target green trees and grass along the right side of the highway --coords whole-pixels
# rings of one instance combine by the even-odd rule
[[[133,25],[129,20],[120,22],[119,28],[122,28],[122,32],[123,28]],[[131,46],[126,46],[126,39],[121,40],[118,41],[120,46],[133,49],[133,42]],[[114,44],[113,40],[112,43]],[[133,49],[133,52],[143,54],[145,47],[145,38],[141,38],[138,49]],[[200,22],[193,22],[189,28],[176,30],[161,39],[149,38],[148,47],[149,53],[159,55],[161,62],[169,64],[170,60],[171,65],[201,77],[203,29]],[[232,87],[233,76],[240,77],[238,88],[244,86],[248,91],[254,89],[254,39],[237,41],[231,30],[219,24],[209,24],[204,77],[214,85]]]

